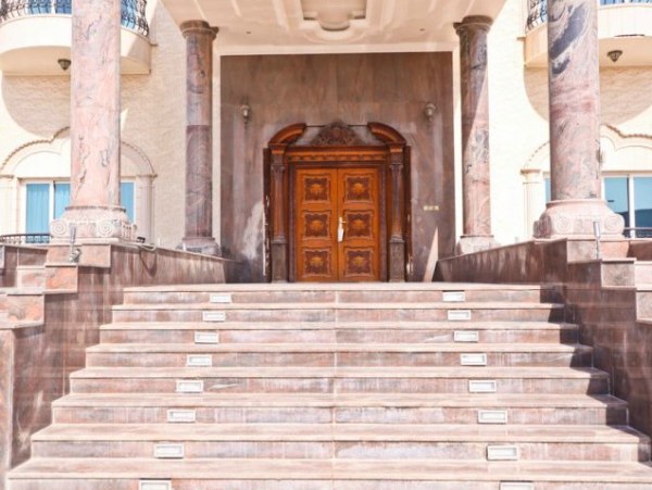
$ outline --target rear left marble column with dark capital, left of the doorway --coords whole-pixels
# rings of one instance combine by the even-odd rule
[[[186,228],[181,248],[216,253],[213,238],[213,40],[203,21],[180,26],[186,38]]]

